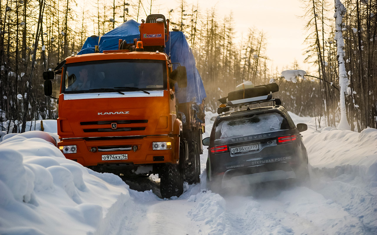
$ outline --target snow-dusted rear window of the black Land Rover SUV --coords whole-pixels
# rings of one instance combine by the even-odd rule
[[[216,126],[215,139],[235,138],[288,129],[290,129],[288,121],[278,113],[251,114],[221,120]]]

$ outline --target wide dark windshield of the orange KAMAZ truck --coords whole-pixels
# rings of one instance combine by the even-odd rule
[[[166,61],[109,60],[67,64],[62,92],[155,90],[167,88]]]

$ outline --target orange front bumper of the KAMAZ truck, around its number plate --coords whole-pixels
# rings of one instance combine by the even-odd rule
[[[172,144],[170,149],[153,150],[153,142],[171,142]],[[117,163],[153,164],[169,162],[176,164],[179,159],[178,136],[145,136],[144,138],[105,140],[63,139],[58,143],[58,147],[72,145],[77,146],[77,152],[65,153],[64,156],[84,166]],[[105,157],[106,160],[102,157],[103,155],[107,156]]]

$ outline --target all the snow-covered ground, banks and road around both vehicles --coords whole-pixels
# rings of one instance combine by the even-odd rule
[[[206,129],[217,114],[206,111]],[[377,233],[377,130],[324,127],[290,113],[308,150],[308,185],[208,190],[201,183],[160,199],[120,177],[64,158],[56,134],[8,134],[0,142],[0,234],[367,234]],[[56,130],[55,127],[49,127]]]

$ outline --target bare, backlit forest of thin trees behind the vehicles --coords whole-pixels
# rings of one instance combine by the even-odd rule
[[[342,0],[345,14],[346,113],[351,130],[377,126],[377,0]],[[201,9],[184,2],[175,8],[141,0],[0,0],[0,130],[24,132],[26,121],[57,118],[56,100],[44,96],[42,73],[77,54],[87,37],[103,35],[127,20],[141,22],[161,13],[171,27],[185,33],[207,92],[206,106],[246,80],[255,85],[275,81],[277,96],[290,111],[316,117],[318,128],[339,122],[338,50],[334,40],[334,2],[302,0],[307,56],[316,72],[296,83],[271,68],[267,36],[258,25],[236,35],[232,13]],[[266,6],[267,7],[267,6]],[[296,61],[285,69],[300,69]],[[53,80],[53,96],[60,81]]]

